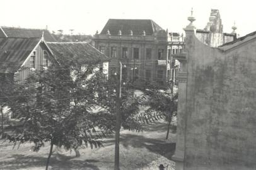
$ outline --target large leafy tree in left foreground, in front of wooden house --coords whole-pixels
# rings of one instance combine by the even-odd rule
[[[48,69],[31,72],[25,82],[16,83],[9,106],[20,120],[13,131],[5,133],[11,142],[33,142],[37,151],[50,143],[46,168],[55,146],[77,150],[85,144],[100,147],[104,128],[98,125],[95,80],[88,78],[97,64],[81,69],[76,56],[64,57]],[[71,74],[72,73],[72,74]],[[71,76],[72,75],[72,76]],[[98,130],[95,130],[98,128]]]

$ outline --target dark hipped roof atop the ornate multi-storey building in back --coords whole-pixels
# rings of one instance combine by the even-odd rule
[[[109,19],[100,34],[107,34],[107,30],[111,35],[118,35],[119,30],[122,35],[130,35],[131,30],[133,35],[152,35],[154,31],[163,30],[161,26],[153,20],[124,20],[124,19]]]

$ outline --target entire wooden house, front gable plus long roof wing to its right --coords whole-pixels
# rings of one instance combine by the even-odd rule
[[[108,74],[109,57],[86,42],[52,42],[42,38],[0,38],[0,72],[24,81],[30,72],[61,63],[61,55],[75,56],[81,65],[98,62],[98,69]]]

